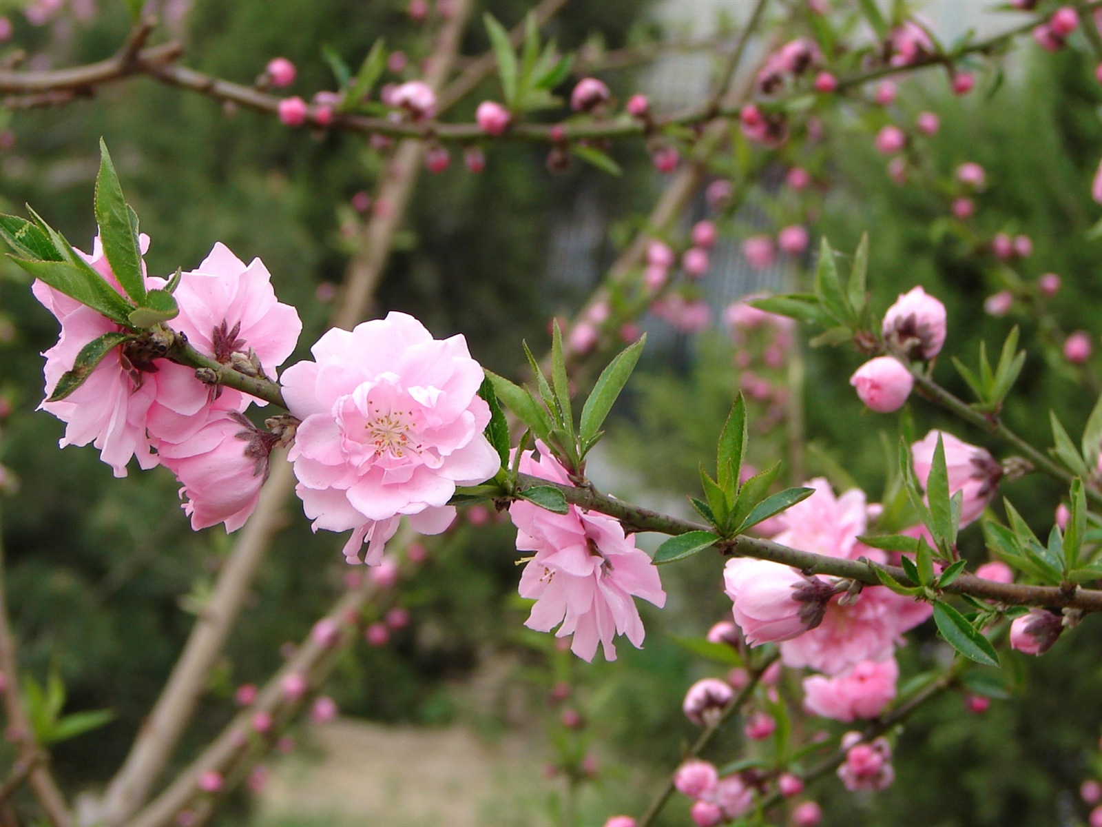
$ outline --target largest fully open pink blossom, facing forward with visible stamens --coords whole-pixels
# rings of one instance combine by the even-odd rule
[[[345,557],[358,560],[367,543],[369,565],[400,515],[422,534],[443,531],[455,486],[480,483],[500,464],[483,436],[483,370],[463,336],[434,340],[392,312],[331,330],[311,352],[316,362],[284,372],[283,396],[302,420],[289,459],[314,529],[354,529]]]

